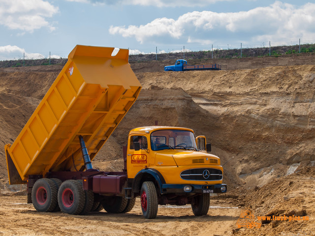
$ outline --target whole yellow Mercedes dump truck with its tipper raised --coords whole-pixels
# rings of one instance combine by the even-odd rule
[[[137,99],[141,85],[128,50],[77,45],[14,143],[5,145],[10,184],[27,183],[37,211],[86,214],[130,211],[141,198],[144,216],[158,205],[191,204],[208,213],[210,193],[226,192],[220,158],[191,129],[150,126],[130,131],[122,172],[91,160]]]

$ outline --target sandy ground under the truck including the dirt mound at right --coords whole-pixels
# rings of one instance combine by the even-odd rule
[[[145,219],[140,200],[125,214],[104,210],[87,215],[62,212],[37,212],[27,204],[23,191],[0,196],[0,235],[33,236],[266,236],[315,235],[315,168],[304,168],[300,173],[278,178],[253,189],[237,189],[212,197],[209,213],[194,216],[187,206],[159,206],[156,219]],[[298,180],[297,180],[298,179]],[[246,209],[251,209],[260,228],[238,228],[238,220]],[[258,216],[297,216],[308,220],[274,220],[262,222]]]

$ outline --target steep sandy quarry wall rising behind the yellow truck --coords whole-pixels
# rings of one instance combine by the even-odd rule
[[[206,135],[222,163],[234,156],[224,166],[225,182],[231,186],[263,185],[302,166],[314,165],[312,63],[222,71],[135,69],[143,89],[95,157],[95,165],[121,169],[120,147],[126,145],[128,131],[152,125],[155,120],[160,125],[189,127],[196,135]],[[15,140],[61,69],[60,65],[0,69],[2,147]],[[6,186],[3,148],[0,188]]]

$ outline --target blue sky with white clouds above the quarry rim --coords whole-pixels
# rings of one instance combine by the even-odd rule
[[[310,0],[0,0],[0,60],[77,45],[168,53],[315,43]]]

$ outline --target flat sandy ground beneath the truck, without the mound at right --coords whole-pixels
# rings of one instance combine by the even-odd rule
[[[139,200],[125,214],[102,210],[84,216],[36,212],[31,204],[26,204],[25,196],[1,196],[0,202],[0,235],[16,236],[226,235],[230,228],[236,228],[234,221],[240,215],[240,209],[229,206],[212,206],[207,216],[200,217],[193,216],[189,206],[160,206],[158,217],[147,220],[142,216]]]

